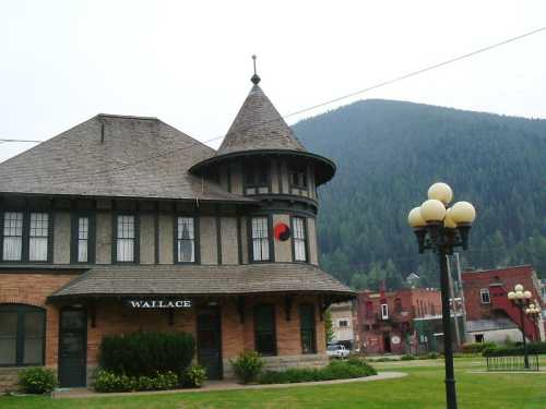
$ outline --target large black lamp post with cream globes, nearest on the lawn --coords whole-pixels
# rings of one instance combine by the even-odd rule
[[[447,208],[453,191],[446,183],[435,183],[428,189],[428,200],[413,208],[407,221],[417,238],[419,254],[431,250],[440,262],[440,289],[442,298],[443,352],[446,356],[446,400],[448,409],[456,409],[455,373],[450,312],[447,255],[453,249],[468,248],[468,233],[476,218],[476,210],[468,202],[456,202]],[[456,320],[456,316],[455,316]]]

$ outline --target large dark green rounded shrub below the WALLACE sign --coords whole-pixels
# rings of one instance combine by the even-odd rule
[[[183,333],[135,333],[106,337],[100,342],[100,368],[115,374],[153,376],[189,366],[195,342]]]

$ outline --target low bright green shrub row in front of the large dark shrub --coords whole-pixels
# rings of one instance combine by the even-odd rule
[[[152,376],[128,376],[110,371],[98,370],[93,385],[96,392],[166,390],[178,386],[178,376],[169,371]]]

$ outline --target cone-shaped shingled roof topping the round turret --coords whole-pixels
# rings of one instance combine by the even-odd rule
[[[271,100],[259,85],[252,89],[237,113],[216,156],[246,151],[304,151]]]

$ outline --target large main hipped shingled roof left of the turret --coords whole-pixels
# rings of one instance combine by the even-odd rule
[[[188,172],[212,156],[156,118],[98,115],[0,164],[0,192],[251,202]]]

